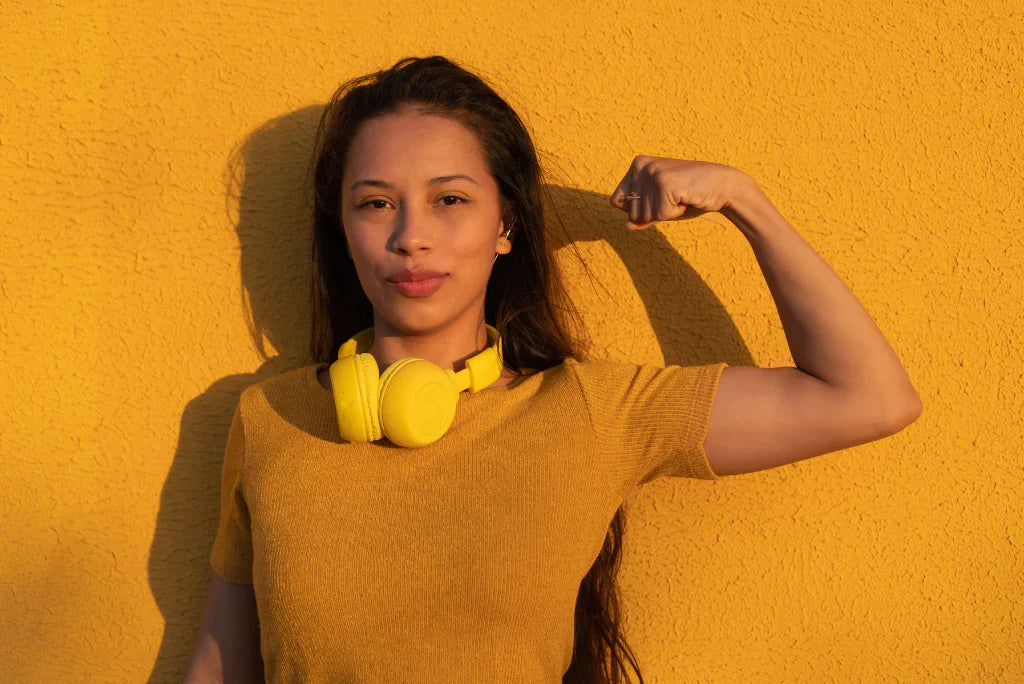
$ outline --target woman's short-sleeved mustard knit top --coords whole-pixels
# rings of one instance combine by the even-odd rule
[[[718,479],[724,362],[567,358],[462,392],[418,448],[342,440],[328,365],[247,387],[224,453],[210,563],[253,585],[268,682],[561,682],[625,498]]]

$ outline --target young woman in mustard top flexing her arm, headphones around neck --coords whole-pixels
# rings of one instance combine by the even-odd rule
[[[634,487],[839,451],[921,411],[842,281],[708,162],[637,157],[610,203],[635,229],[731,219],[797,368],[588,358],[529,135],[443,57],[344,84],[313,184],[316,362],[240,399],[194,681],[639,676],[614,587]]]

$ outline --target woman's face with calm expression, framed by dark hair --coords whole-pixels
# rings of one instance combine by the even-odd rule
[[[416,334],[482,320],[495,254],[511,246],[500,240],[498,183],[461,123],[411,109],[364,122],[345,160],[341,217],[375,325]],[[439,287],[402,292],[389,282],[401,269],[437,271]]]

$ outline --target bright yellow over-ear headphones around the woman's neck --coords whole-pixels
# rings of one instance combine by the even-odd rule
[[[452,369],[425,358],[399,358],[380,375],[377,359],[365,353],[374,341],[367,328],[341,345],[331,365],[338,428],[346,441],[376,441],[383,436],[399,446],[426,446],[440,439],[455,419],[459,392],[478,392],[502,375],[502,340],[487,329],[486,349]]]

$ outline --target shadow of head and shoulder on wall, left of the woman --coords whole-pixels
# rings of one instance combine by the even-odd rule
[[[242,310],[224,313],[246,322],[247,335],[263,360],[254,373],[213,383],[181,415],[148,555],[150,586],[166,621],[150,682],[180,679],[195,646],[209,587],[227,430],[242,390],[309,362],[305,179],[323,109],[307,106],[266,122],[232,151],[224,171],[225,211],[239,240],[243,302]],[[216,344],[220,330],[210,326],[211,343]]]

